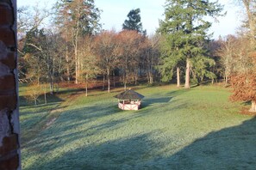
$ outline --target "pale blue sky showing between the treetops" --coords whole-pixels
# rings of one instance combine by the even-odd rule
[[[35,4],[35,0],[17,1],[18,7],[23,5]],[[50,8],[56,0],[41,0],[41,6]],[[219,1],[225,5],[224,10],[227,15],[218,18],[218,22],[213,22],[209,33],[214,33],[213,38],[217,39],[219,35],[225,36],[234,34],[237,27],[240,26],[242,14],[238,7],[228,3],[230,0]],[[159,27],[159,19],[164,19],[164,4],[165,0],[95,0],[98,9],[102,10],[100,22],[103,24],[103,29],[116,31],[122,30],[122,23],[127,19],[128,12],[131,9],[140,8],[140,16],[143,29],[147,29],[147,34],[153,34]]]

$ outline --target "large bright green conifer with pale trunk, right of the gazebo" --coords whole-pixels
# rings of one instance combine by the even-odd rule
[[[159,66],[165,77],[169,70],[186,62],[185,88],[190,88],[191,60],[207,56],[203,44],[209,40],[207,31],[211,23],[205,16],[221,15],[222,6],[209,0],[167,0],[165,3],[165,20],[160,21],[158,32],[164,37],[162,48],[162,64]],[[166,61],[168,63],[166,64]],[[172,70],[170,70],[172,72]],[[168,79],[171,76],[166,76]]]

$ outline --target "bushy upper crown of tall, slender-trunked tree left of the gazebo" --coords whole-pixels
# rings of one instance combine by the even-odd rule
[[[94,4],[94,0],[60,0],[56,3],[56,24],[61,31],[77,31],[78,34],[97,33],[100,10]]]

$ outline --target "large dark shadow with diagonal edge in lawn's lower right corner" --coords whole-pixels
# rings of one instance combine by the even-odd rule
[[[210,132],[168,158],[172,169],[255,169],[256,118]]]

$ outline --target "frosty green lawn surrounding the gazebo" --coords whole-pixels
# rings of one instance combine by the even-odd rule
[[[22,168],[255,169],[256,118],[227,88],[138,87],[139,111],[117,108],[121,90],[21,106]]]

